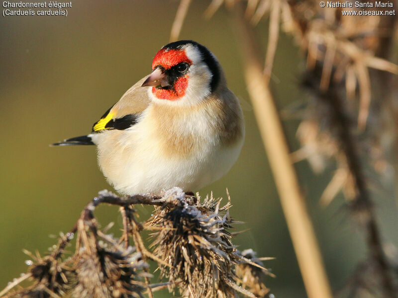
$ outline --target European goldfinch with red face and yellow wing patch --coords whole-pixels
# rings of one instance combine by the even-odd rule
[[[98,163],[123,195],[193,192],[223,176],[244,139],[242,109],[215,56],[191,40],[161,48],[87,136],[56,146],[96,145]]]

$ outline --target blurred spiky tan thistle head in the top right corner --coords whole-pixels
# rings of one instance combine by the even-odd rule
[[[289,26],[285,26],[286,31],[293,34],[307,52],[307,68],[311,70],[316,62],[322,64],[320,88],[327,89],[333,69],[336,83],[346,76],[347,93],[355,102],[354,92],[358,81],[360,107],[357,121],[360,130],[364,131],[371,100],[369,70],[398,74],[397,65],[382,55],[383,51],[388,50],[379,50],[388,45],[383,39],[392,36],[394,18],[342,16],[341,9],[323,9],[316,1],[281,1],[289,7],[289,12],[283,14],[285,23],[289,23]],[[382,47],[377,42],[380,36]]]

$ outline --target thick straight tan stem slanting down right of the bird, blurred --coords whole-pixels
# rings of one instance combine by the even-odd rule
[[[295,247],[298,264],[309,298],[331,298],[329,283],[309,216],[305,210],[298,180],[290,159],[283,128],[271,91],[266,84],[258,42],[252,27],[236,5],[236,21],[243,45],[245,78],[263,143],[274,174],[283,211]]]

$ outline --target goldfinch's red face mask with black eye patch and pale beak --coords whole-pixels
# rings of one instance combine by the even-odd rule
[[[142,86],[152,86],[152,93],[159,99],[178,100],[187,90],[191,65],[185,50],[161,49],[153,59],[152,74]]]

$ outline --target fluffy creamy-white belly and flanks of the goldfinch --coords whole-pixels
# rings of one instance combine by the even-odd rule
[[[100,168],[107,180],[123,195],[159,194],[174,186],[198,191],[223,176],[235,163],[243,138],[230,146],[214,142],[205,126],[197,150],[187,156],[165,156],[156,139],[157,128],[145,119],[124,131],[104,131],[93,137],[98,145]]]

